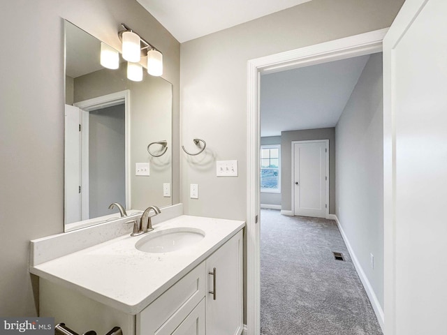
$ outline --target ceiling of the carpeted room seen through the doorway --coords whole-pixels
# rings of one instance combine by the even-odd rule
[[[334,127],[369,55],[261,77],[261,136]]]

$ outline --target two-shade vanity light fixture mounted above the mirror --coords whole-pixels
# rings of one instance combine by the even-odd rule
[[[156,47],[141,38],[129,26],[124,23],[122,23],[121,25],[124,30],[118,31],[118,36],[119,38],[121,38],[123,43],[123,58],[126,59],[126,61],[138,63],[141,60],[142,54],[145,56],[147,52],[147,73],[154,76],[163,75],[163,54],[161,54],[161,52],[157,50]],[[131,40],[132,42],[130,42]],[[132,67],[133,66],[131,66],[131,68]],[[128,78],[131,79],[129,77],[129,64],[127,66],[127,69]]]

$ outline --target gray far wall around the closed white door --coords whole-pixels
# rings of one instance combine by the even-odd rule
[[[281,133],[281,209],[292,209],[292,141],[309,140],[329,140],[329,213],[335,214],[335,128]]]

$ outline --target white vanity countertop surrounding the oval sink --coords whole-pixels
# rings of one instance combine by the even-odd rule
[[[182,215],[154,224],[152,232],[179,227],[203,230],[205,238],[188,248],[144,253],[135,243],[152,232],[138,237],[126,234],[30,267],[30,271],[119,311],[137,314],[244,225],[244,221]]]

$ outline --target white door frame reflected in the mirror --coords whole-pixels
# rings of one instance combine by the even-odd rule
[[[91,98],[78,103],[73,103],[73,106],[79,107],[81,110],[82,128],[87,128],[89,125],[89,112],[92,110],[99,110],[101,108],[112,107],[124,103],[124,167],[126,174],[126,209],[131,209],[131,91],[126,89],[124,91],[115,92],[112,94],[105,94],[97,98]],[[82,131],[82,167],[81,167],[81,187],[82,187],[82,220],[87,220],[89,216],[89,136],[88,133]]]

